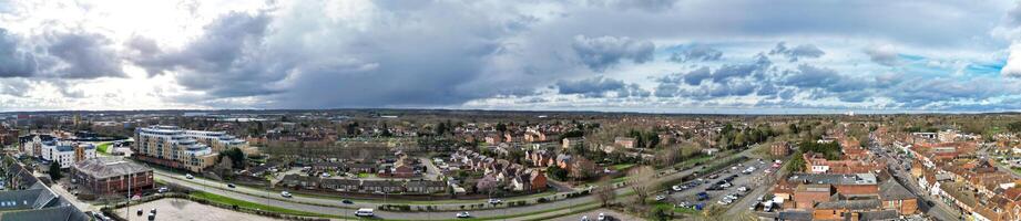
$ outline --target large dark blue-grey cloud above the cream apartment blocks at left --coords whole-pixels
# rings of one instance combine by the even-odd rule
[[[263,13],[231,12],[206,25],[202,36],[180,51],[164,52],[153,40],[137,36],[126,46],[136,55],[131,60],[150,74],[180,71],[178,83],[190,90],[217,97],[267,95],[278,92],[267,84],[295,70],[286,56],[262,60],[275,55],[262,48],[269,21]]]

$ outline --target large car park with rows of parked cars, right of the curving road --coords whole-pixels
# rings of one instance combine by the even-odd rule
[[[767,175],[766,170],[769,170],[769,175],[772,175],[778,169],[774,168],[773,165],[773,161],[759,161],[753,158],[716,173],[703,176],[702,181],[696,179],[685,183],[670,183],[671,186],[680,186],[683,190],[675,191],[671,188],[672,190],[668,191],[670,193],[664,200],[672,204],[686,207],[697,207],[696,204],[703,208],[712,204],[737,207],[735,206],[737,202],[742,202],[742,207],[751,207],[752,201],[755,200],[743,199],[748,197],[758,198],[762,194],[763,191],[757,190],[766,188],[762,187],[763,178]],[[754,168],[749,169],[751,167]],[[753,196],[753,192],[757,196]],[[660,192],[658,194],[664,193],[667,192]],[[736,199],[734,199],[735,197]],[[724,200],[725,198],[731,199]]]

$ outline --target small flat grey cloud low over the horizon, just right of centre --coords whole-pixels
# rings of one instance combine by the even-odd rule
[[[559,81],[555,84],[560,94],[580,94],[585,97],[645,97],[649,91],[642,90],[637,84],[626,84],[620,80],[602,76],[579,80]]]

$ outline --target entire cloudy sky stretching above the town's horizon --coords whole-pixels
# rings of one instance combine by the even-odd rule
[[[1021,110],[987,0],[0,0],[0,112]]]

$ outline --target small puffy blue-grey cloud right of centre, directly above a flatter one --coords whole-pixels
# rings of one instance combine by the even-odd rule
[[[636,41],[626,36],[589,38],[575,35],[571,44],[582,63],[596,72],[631,60],[636,64],[652,61],[656,46],[650,41]]]

